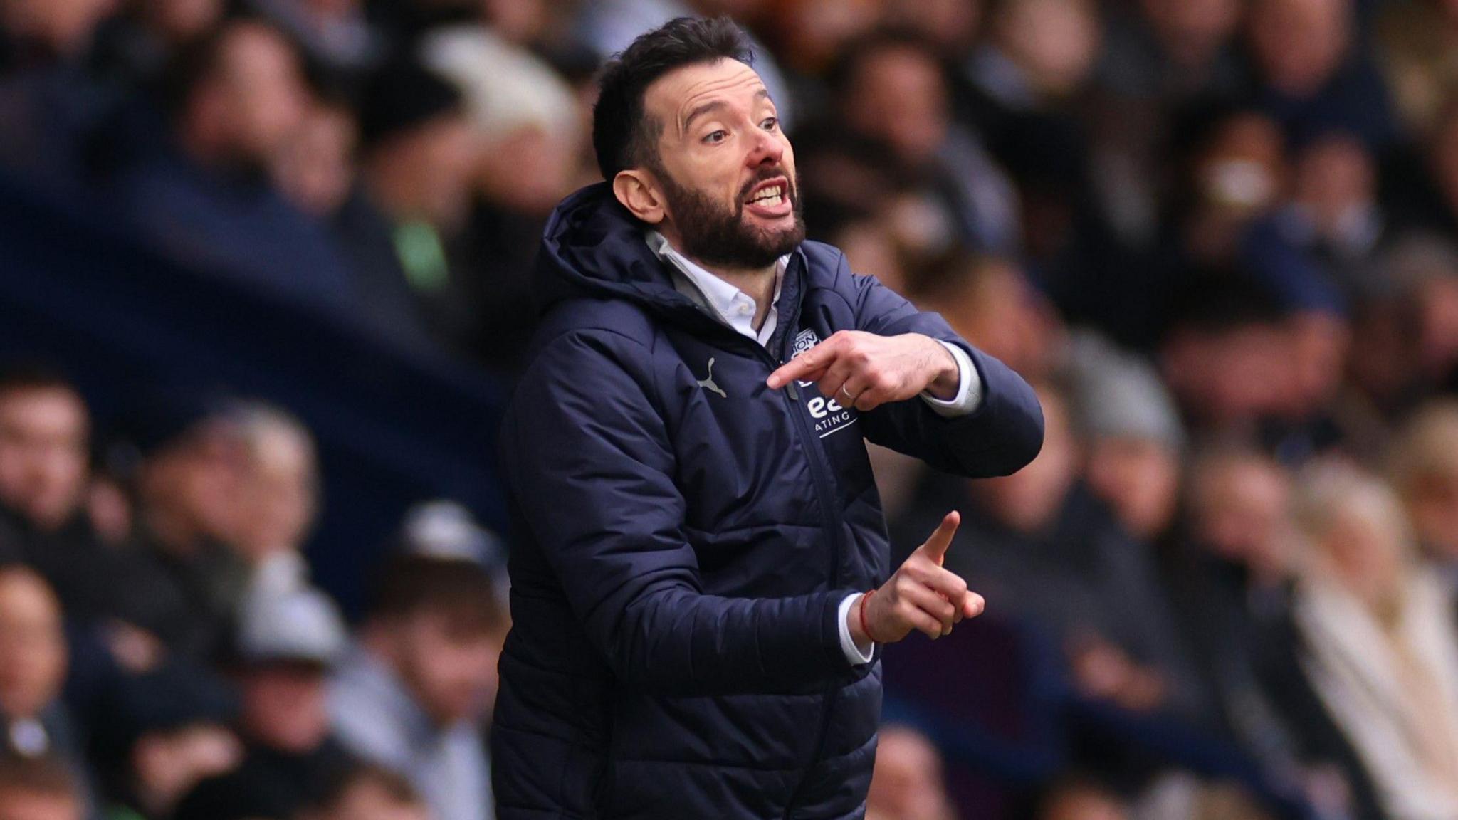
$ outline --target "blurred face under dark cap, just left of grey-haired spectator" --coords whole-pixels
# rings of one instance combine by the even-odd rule
[[[147,458],[140,473],[143,512],[169,546],[195,538],[227,541],[239,527],[239,487],[246,452],[236,429],[201,422],[181,441]]]

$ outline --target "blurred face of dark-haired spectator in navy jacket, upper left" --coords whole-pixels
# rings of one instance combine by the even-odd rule
[[[299,133],[308,90],[299,57],[276,29],[229,23],[210,76],[194,90],[188,130],[204,150],[267,163]]]

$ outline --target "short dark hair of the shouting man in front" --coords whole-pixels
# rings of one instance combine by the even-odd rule
[[[749,38],[729,18],[677,18],[639,35],[602,70],[592,108],[592,149],[602,178],[656,162],[662,123],[643,111],[643,95],[663,74],[684,66],[719,60],[754,63]]]

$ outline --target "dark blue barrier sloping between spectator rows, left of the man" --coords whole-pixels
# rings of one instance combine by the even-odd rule
[[[223,388],[315,432],[321,585],[357,611],[369,565],[413,502],[449,496],[504,531],[496,428],[503,382],[206,271],[179,268],[104,217],[0,179],[0,357],[77,379],[105,423],[157,388]]]

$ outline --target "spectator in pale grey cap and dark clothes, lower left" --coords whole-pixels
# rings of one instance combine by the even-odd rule
[[[267,598],[238,630],[243,762],[197,785],[174,820],[287,820],[350,763],[330,734],[327,678],[347,636],[318,592]],[[367,715],[366,715],[367,716]]]

